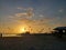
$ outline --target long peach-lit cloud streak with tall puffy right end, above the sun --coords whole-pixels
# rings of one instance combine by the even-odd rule
[[[20,12],[20,13],[14,13],[13,16],[9,16],[9,18],[32,18],[34,17],[34,13],[32,12],[32,9],[28,10],[26,12]]]

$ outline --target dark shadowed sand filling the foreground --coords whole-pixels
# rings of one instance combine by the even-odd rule
[[[66,50],[66,38],[25,36],[0,38],[0,50]]]

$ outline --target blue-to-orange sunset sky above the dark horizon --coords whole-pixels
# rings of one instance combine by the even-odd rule
[[[66,26],[66,0],[0,0],[0,32],[50,32]]]

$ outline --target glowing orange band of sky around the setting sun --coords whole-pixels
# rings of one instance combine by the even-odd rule
[[[16,23],[12,24],[6,24],[1,26],[0,30],[2,33],[22,33],[23,28],[25,28],[24,31],[30,31],[31,33],[38,33],[38,32],[50,32],[53,30],[55,27],[59,27],[62,24],[50,24],[50,20],[44,20],[41,22],[41,20],[22,20],[22,21],[15,21]]]

